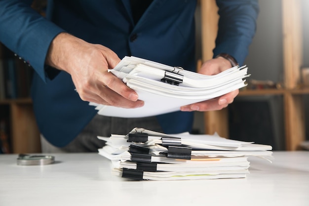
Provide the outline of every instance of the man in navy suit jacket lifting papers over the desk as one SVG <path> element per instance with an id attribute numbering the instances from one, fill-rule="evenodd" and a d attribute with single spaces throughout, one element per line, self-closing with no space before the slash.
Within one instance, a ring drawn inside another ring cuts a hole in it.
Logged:
<path id="1" fill-rule="evenodd" d="M 156 117 L 96 116 L 89 101 L 124 108 L 144 105 L 134 90 L 107 72 L 124 56 L 195 70 L 196 0 L 48 0 L 46 19 L 31 2 L 0 0 L 0 41 L 35 69 L 32 98 L 39 130 L 63 151 L 96 151 L 101 146 L 96 135 L 127 133 L 135 126 L 191 131 L 191 111 L 222 109 L 238 94 L 236 90 Z M 200 73 L 206 75 L 242 64 L 256 29 L 257 0 L 217 0 L 217 5 L 214 57 L 219 56 L 203 64 Z"/>

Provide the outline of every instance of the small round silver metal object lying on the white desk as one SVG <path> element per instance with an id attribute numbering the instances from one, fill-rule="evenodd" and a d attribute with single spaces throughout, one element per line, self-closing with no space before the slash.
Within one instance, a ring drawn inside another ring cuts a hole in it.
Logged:
<path id="1" fill-rule="evenodd" d="M 51 155 L 26 155 L 19 154 L 17 165 L 49 165 L 55 162 L 55 157 Z"/>

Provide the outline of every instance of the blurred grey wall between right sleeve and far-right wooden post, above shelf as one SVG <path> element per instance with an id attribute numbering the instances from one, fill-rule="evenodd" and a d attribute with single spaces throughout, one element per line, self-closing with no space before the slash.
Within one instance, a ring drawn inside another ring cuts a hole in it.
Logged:
<path id="1" fill-rule="evenodd" d="M 259 0 L 256 35 L 245 64 L 251 79 L 282 81 L 281 0 Z"/>

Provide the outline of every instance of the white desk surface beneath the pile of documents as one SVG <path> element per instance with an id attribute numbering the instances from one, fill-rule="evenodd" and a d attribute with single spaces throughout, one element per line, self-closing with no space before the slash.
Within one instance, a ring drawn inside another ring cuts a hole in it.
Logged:
<path id="1" fill-rule="evenodd" d="M 249 158 L 242 179 L 124 181 L 98 154 L 53 154 L 20 166 L 0 155 L 0 206 L 309 206 L 309 152 Z"/>

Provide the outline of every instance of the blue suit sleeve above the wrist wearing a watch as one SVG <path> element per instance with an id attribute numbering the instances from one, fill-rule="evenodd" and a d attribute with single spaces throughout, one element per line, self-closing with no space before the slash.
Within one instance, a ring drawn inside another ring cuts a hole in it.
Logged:
<path id="1" fill-rule="evenodd" d="M 256 32 L 258 0 L 216 0 L 219 25 L 214 56 L 232 55 L 242 65 Z"/>

